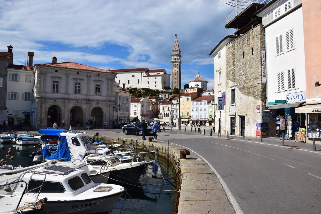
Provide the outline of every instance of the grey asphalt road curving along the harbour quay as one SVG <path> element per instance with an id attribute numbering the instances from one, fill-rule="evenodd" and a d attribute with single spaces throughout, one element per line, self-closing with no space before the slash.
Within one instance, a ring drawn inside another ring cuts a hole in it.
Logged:
<path id="1" fill-rule="evenodd" d="M 122 130 L 99 132 L 125 136 Z M 161 132 L 158 140 L 169 140 L 203 156 L 244 213 L 321 213 L 321 153 L 312 152 L 312 146 L 306 149 L 310 145 L 286 142 L 288 146 L 282 147 L 281 141 L 265 140 L 266 144 L 261 144 L 255 138 L 209 137 L 190 129 Z"/>

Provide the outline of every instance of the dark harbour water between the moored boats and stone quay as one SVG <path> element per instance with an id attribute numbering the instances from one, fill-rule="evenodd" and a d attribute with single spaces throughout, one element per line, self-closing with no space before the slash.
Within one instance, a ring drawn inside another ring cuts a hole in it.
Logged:
<path id="1" fill-rule="evenodd" d="M 4 146 L 4 149 L 0 150 L 0 159 L 7 161 L 8 165 L 13 165 L 14 167 L 18 165 L 33 165 L 29 157 L 34 151 L 33 146 L 21 146 L 9 143 L 0 144 L 0 146 Z M 10 147 L 12 152 L 9 157 L 5 157 Z M 10 160 L 11 156 L 14 156 L 14 160 Z M 154 158 L 151 154 L 142 156 L 144 160 L 152 160 Z M 121 197 L 110 213 L 173 213 L 176 193 L 171 191 L 175 191 L 176 189 L 176 173 L 174 172 L 172 174 L 175 166 L 161 156 L 158 156 L 157 159 L 161 171 L 158 169 L 157 164 L 147 165 L 146 170 L 140 178 L 140 183 L 134 183 L 134 185 L 119 184 L 127 189 L 130 197 L 128 195 L 126 195 L 126 198 Z M 161 190 L 169 191 L 164 192 Z"/>

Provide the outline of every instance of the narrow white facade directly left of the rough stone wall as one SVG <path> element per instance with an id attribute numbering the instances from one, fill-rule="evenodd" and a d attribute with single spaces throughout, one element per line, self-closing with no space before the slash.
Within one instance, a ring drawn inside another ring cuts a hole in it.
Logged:
<path id="1" fill-rule="evenodd" d="M 224 98 L 224 109 L 217 110 L 216 115 L 220 115 L 221 117 L 221 134 L 226 135 L 226 122 L 225 122 L 225 113 L 226 113 L 226 45 L 231 41 L 235 40 L 236 36 L 228 35 L 223 38 L 216 47 L 212 50 L 210 55 L 214 56 L 214 86 L 215 86 L 215 97 L 223 97 Z M 217 99 L 217 98 L 216 98 Z M 219 118 L 215 117 L 215 125 L 219 124 Z M 216 133 L 218 129 L 215 130 Z"/>

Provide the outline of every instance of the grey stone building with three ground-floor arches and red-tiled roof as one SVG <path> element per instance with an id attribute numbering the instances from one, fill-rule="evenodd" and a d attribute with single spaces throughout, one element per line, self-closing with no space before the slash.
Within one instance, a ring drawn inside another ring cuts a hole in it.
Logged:
<path id="1" fill-rule="evenodd" d="M 114 119 L 117 73 L 75 62 L 35 64 L 34 96 L 37 128 L 58 127 L 65 120 L 66 126 L 84 127 L 92 120 L 96 128 L 103 128 L 107 121 L 112 127 Z"/>

